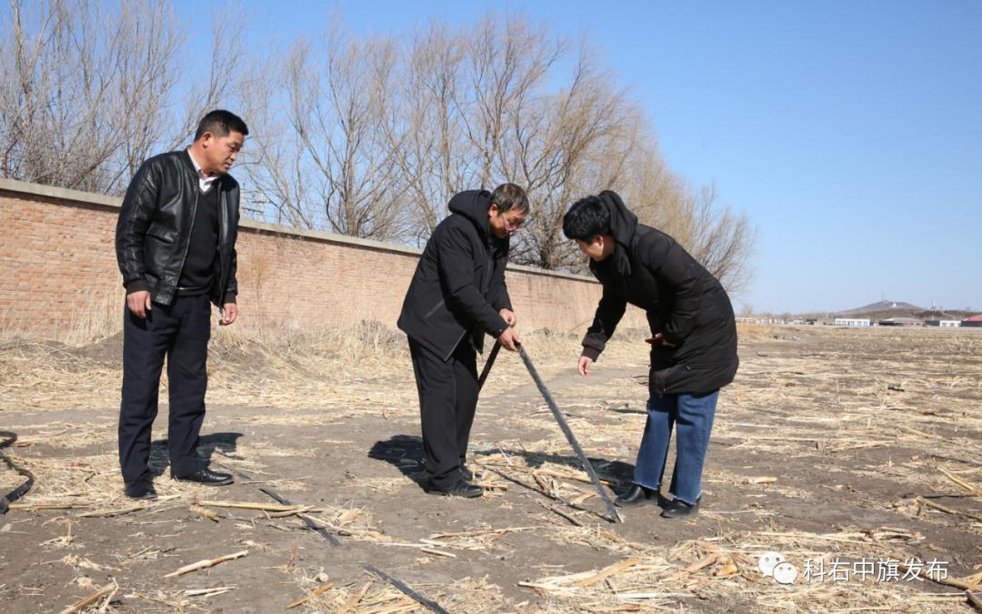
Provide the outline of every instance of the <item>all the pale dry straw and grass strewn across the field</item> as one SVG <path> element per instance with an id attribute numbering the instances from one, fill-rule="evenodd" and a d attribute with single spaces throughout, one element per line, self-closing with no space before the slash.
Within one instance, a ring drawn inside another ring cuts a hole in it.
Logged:
<path id="1" fill-rule="evenodd" d="M 975 453 L 982 432 L 982 334 L 814 327 L 741 327 L 740 332 L 742 366 L 723 395 L 713 453 L 725 451 L 726 458 L 736 461 L 741 455 L 759 456 L 775 463 L 771 471 L 747 469 L 749 460 L 711 463 L 705 474 L 706 495 L 728 503 L 704 509 L 695 538 L 629 538 L 621 526 L 599 521 L 595 510 L 601 506 L 592 487 L 573 467 L 568 444 L 537 402 L 501 418 L 507 426 L 503 432 L 515 432 L 515 437 L 475 441 L 478 450 L 471 457 L 483 482 L 508 487 L 490 491 L 487 505 L 509 509 L 520 502 L 518 492 L 536 497 L 536 512 L 520 525 L 486 523 L 397 540 L 380 518 L 385 510 L 335 501 L 309 515 L 344 539 L 380 550 L 414 552 L 414 566 L 421 569 L 439 561 L 466 561 L 478 552 L 504 557 L 543 547 L 602 553 L 612 561 L 586 571 L 575 561 L 570 569 L 531 568 L 518 599 L 514 586 L 501 586 L 493 576 L 461 578 L 453 585 L 413 585 L 450 611 L 968 611 L 960 591 L 931 581 L 799 580 L 782 586 L 763 577 L 756 563 L 772 550 L 782 552 L 799 573 L 809 561 L 827 566 L 835 560 L 926 562 L 932 554 L 944 555 L 935 545 L 939 535 L 952 534 L 968 544 L 962 552 L 964 562 L 979 562 L 982 550 L 972 550 L 971 544 L 982 543 L 982 463 Z M 804 338 L 807 343 L 799 343 Z M 112 450 L 115 432 L 106 427 L 112 413 L 84 421 L 25 419 L 26 408 L 114 407 L 118 381 L 107 382 L 118 378 L 119 366 L 105 351 L 109 346 L 104 340 L 82 347 L 21 343 L 0 349 L 0 413 L 10 413 L 13 419 L 5 421 L 24 433 L 22 443 L 44 443 L 53 452 L 18 458 L 38 476 L 24 503 L 35 509 L 74 506 L 59 513 L 59 534 L 40 547 L 49 553 L 47 558 L 61 557 L 63 565 L 77 570 L 78 585 L 92 591 L 101 584 L 96 586 L 89 576 L 95 568 L 105 571 L 108 563 L 90 560 L 76 547 L 75 523 L 91 516 L 156 518 L 165 510 L 206 503 L 213 494 L 204 486 L 158 479 L 161 498 L 133 504 L 119 489 Z M 579 351 L 578 336 L 543 332 L 527 335 L 525 346 L 547 378 L 569 373 Z M 646 360 L 642 336 L 625 335 L 611 344 L 598 368 L 628 365 L 641 377 L 625 376 L 599 387 L 587 381 L 554 391 L 584 449 L 593 458 L 605 459 L 597 471 L 611 483 L 618 480 L 613 463 L 633 461 L 625 446 L 636 443 L 644 420 Z M 515 357 L 502 354 L 499 362 L 487 384 L 492 389 L 528 384 Z M 245 424 L 321 426 L 361 415 L 408 422 L 416 412 L 405 339 L 375 324 L 319 335 L 263 337 L 222 331 L 213 338 L 211 369 L 210 403 L 269 410 L 249 414 L 243 418 Z M 318 411 L 305 411 L 310 409 Z M 528 435 L 532 432 L 548 434 L 535 440 Z M 325 433 L 327 438 L 319 443 L 346 443 L 339 438 L 343 436 Z M 317 442 L 286 450 L 244 438 L 234 455 L 216 449 L 214 459 L 265 485 L 303 492 L 302 474 L 268 474 L 265 463 L 277 454 L 309 458 L 313 450 L 303 447 L 309 445 Z M 65 453 L 59 454 L 62 450 Z M 11 452 L 17 455 L 18 449 Z M 154 453 L 166 455 L 164 450 Z M 166 459 L 153 463 L 163 466 Z M 798 475 L 790 468 L 811 468 L 816 474 Z M 351 479 L 362 492 L 389 496 L 398 496 L 407 482 L 403 476 Z M 871 486 L 862 480 L 870 480 Z M 0 486 L 7 483 L 17 480 L 0 470 Z M 910 494 L 898 497 L 898 492 Z M 956 496 L 930 498 L 935 493 Z M 828 506 L 852 506 L 851 521 L 828 530 L 804 530 L 793 514 L 783 513 Z M 217 511 L 221 523 L 242 529 L 243 539 L 257 525 L 289 530 L 300 523 L 296 516 Z M 640 513 L 628 511 L 626 516 L 631 522 Z M 867 516 L 889 516 L 896 523 L 868 521 Z M 159 554 L 150 548 L 136 556 L 155 553 Z M 979 571 L 982 567 L 975 568 L 976 574 Z M 284 567 L 282 574 L 287 586 L 283 606 L 309 596 L 298 610 L 420 611 L 406 595 L 368 574 L 337 580 L 302 565 Z M 961 580 L 982 582 L 965 576 Z M 144 596 L 171 609 L 176 604 L 188 611 L 206 609 L 209 597 L 222 594 L 224 586 L 215 584 L 211 592 L 171 588 Z"/>

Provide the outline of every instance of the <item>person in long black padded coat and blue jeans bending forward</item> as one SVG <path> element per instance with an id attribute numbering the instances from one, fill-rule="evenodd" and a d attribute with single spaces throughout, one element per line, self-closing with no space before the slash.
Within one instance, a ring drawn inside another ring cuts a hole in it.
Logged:
<path id="1" fill-rule="evenodd" d="M 583 338 L 577 370 L 589 375 L 627 304 L 645 310 L 651 327 L 648 419 L 634 479 L 621 506 L 664 504 L 662 516 L 698 513 L 702 469 L 720 388 L 733 381 L 736 319 L 720 282 L 672 237 L 637 223 L 621 197 L 605 191 L 570 207 L 563 232 L 590 258 L 603 285 L 593 324 Z M 671 502 L 659 488 L 676 429 Z"/>

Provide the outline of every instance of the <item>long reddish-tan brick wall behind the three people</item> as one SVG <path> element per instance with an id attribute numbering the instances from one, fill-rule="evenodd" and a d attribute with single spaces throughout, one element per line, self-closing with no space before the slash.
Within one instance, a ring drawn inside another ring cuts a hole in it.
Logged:
<path id="1" fill-rule="evenodd" d="M 62 338 L 119 328 L 113 247 L 119 198 L 0 180 L 0 333 Z M 240 325 L 395 328 L 418 250 L 243 220 Z M 521 330 L 582 331 L 600 296 L 592 279 L 510 265 Z M 631 308 L 626 326 L 645 326 Z"/>

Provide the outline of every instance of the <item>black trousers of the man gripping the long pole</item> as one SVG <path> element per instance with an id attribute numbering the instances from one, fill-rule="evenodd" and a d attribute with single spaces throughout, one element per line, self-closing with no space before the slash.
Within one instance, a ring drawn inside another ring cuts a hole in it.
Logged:
<path id="1" fill-rule="evenodd" d="M 476 352 L 467 339 L 450 360 L 409 339 L 412 371 L 419 392 L 423 461 L 431 483 L 448 486 L 461 479 L 470 425 L 477 408 Z"/>

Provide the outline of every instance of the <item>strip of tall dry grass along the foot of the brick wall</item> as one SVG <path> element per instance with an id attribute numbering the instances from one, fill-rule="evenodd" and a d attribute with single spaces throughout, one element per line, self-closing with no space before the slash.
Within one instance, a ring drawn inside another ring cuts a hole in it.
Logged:
<path id="1" fill-rule="evenodd" d="M 639 338 L 630 331 L 625 336 Z M 523 339 L 547 377 L 567 370 L 579 356 L 578 335 L 536 331 Z M 321 331 L 216 327 L 208 351 L 208 403 L 296 411 L 324 408 L 336 411 L 335 417 L 416 411 L 406 336 L 374 320 Z M 515 357 L 510 361 L 502 354 L 489 380 L 492 388 L 527 377 Z M 647 355 L 615 346 L 603 360 L 641 364 Z M 116 407 L 121 363 L 119 332 L 83 344 L 27 339 L 0 344 L 0 412 Z M 377 385 L 382 380 L 397 385 Z M 165 368 L 162 402 L 166 396 Z"/>

